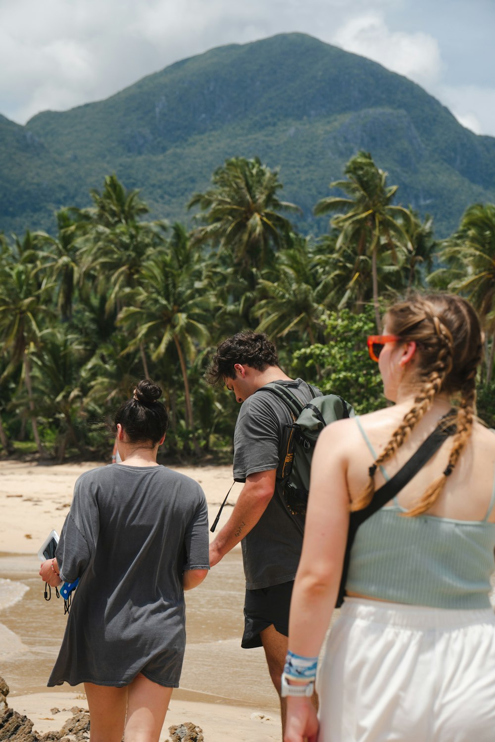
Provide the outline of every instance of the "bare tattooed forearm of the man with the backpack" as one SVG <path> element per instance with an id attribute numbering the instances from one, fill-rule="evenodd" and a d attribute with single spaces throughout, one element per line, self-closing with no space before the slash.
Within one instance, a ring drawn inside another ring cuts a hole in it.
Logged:
<path id="1" fill-rule="evenodd" d="M 275 492 L 276 473 L 270 469 L 246 477 L 232 515 L 210 544 L 210 566 L 220 562 L 258 523 Z"/>

